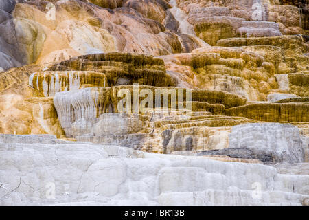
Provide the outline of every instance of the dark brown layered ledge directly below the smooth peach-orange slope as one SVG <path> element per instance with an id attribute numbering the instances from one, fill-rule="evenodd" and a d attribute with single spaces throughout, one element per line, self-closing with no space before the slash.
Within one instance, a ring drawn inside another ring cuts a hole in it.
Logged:
<path id="1" fill-rule="evenodd" d="M 143 54 L 90 54 L 62 61 L 49 68 L 51 71 L 71 69 L 102 72 L 111 86 L 133 83 L 157 87 L 174 85 L 173 79 L 165 72 L 163 61 Z"/>

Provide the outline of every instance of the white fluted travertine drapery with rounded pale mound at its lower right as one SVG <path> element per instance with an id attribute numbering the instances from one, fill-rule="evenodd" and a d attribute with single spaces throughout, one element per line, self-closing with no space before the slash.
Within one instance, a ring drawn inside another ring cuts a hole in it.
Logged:
<path id="1" fill-rule="evenodd" d="M 54 104 L 67 137 L 127 135 L 144 126 L 138 114 L 97 115 L 98 94 L 91 88 L 56 93 Z"/>

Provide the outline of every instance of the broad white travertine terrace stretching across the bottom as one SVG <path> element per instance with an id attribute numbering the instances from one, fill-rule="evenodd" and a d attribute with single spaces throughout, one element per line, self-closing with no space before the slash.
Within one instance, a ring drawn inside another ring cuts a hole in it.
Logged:
<path id="1" fill-rule="evenodd" d="M 0 143 L 1 206 L 301 206 L 309 197 L 308 175 L 262 164 L 10 140 Z"/>

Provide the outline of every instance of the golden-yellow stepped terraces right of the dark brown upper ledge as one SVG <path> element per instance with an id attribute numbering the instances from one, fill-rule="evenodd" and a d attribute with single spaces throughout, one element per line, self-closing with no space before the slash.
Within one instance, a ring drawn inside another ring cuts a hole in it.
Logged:
<path id="1" fill-rule="evenodd" d="M 178 86 L 227 91 L 257 101 L 266 100 L 267 94 L 277 89 L 272 74 L 281 61 L 280 57 L 268 55 L 273 53 L 272 49 L 201 47 L 190 54 L 160 57 L 168 73 L 177 78 Z"/>

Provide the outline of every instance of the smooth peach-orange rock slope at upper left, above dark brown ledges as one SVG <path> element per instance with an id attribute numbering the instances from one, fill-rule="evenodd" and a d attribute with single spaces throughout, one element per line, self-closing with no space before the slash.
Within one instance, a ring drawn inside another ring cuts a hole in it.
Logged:
<path id="1" fill-rule="evenodd" d="M 58 1 L 50 7 L 43 1 L 16 5 L 16 19 L 33 21 L 45 30 L 44 45 L 36 47 L 41 55 L 34 62 L 114 51 L 162 55 L 207 45 L 196 36 L 165 29 L 161 23 L 170 8 L 165 1 L 93 2 L 103 8 L 87 2 Z"/>

